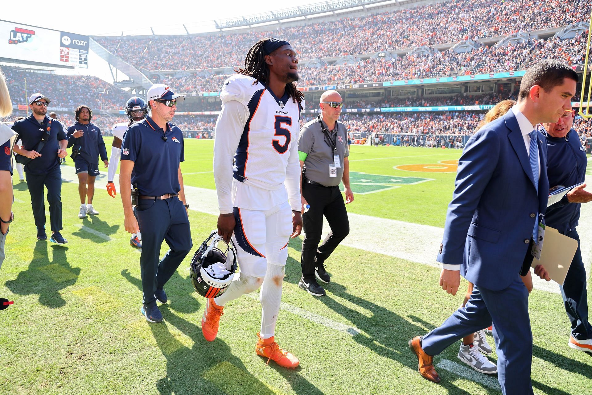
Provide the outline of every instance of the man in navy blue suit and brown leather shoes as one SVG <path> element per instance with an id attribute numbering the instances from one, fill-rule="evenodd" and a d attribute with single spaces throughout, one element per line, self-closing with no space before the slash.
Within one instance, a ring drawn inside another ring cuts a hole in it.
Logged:
<path id="1" fill-rule="evenodd" d="M 409 341 L 427 380 L 440 381 L 434 355 L 493 322 L 503 394 L 533 393 L 528 291 L 520 272 L 532 262 L 530 246 L 549 193 L 547 147 L 535 126 L 555 123 L 571 109 L 577 81 L 575 71 L 556 60 L 531 66 L 517 104 L 466 143 L 437 261 L 447 293 L 456 294 L 461 274 L 475 287 L 442 326 Z"/>

